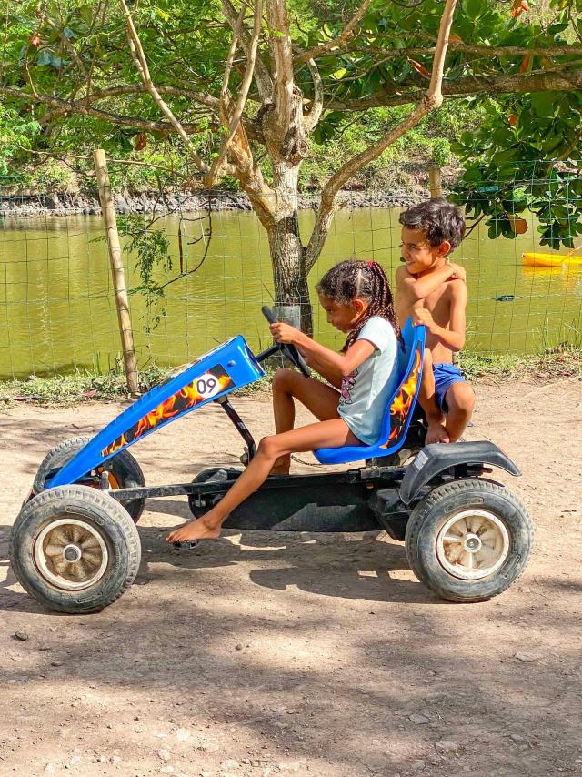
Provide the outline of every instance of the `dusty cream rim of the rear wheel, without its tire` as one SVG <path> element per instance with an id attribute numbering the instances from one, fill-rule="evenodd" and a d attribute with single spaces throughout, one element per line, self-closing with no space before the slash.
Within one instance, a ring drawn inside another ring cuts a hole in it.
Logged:
<path id="1" fill-rule="evenodd" d="M 505 523 L 489 510 L 462 510 L 437 536 L 437 560 L 460 580 L 481 580 L 496 572 L 509 553 Z"/>

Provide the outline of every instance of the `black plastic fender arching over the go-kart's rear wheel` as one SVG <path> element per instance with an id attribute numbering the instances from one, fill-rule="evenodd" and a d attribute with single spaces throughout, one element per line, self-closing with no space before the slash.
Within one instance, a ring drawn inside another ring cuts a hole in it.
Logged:
<path id="1" fill-rule="evenodd" d="M 492 464 L 516 477 L 521 474 L 513 461 L 488 440 L 426 445 L 406 467 L 406 475 L 400 485 L 400 499 L 409 505 L 426 483 L 446 469 L 462 464 Z"/>

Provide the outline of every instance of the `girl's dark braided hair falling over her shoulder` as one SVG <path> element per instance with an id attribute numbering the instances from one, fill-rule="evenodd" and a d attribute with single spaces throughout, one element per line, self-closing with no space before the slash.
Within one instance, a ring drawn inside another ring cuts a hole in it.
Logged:
<path id="1" fill-rule="evenodd" d="M 386 318 L 396 337 L 400 328 L 396 320 L 394 298 L 386 273 L 377 262 L 365 262 L 361 259 L 345 259 L 339 262 L 316 285 L 318 294 L 333 299 L 338 305 L 349 305 L 356 298 L 369 303 L 365 315 L 357 322 L 356 328 L 347 335 L 342 351 L 354 345 L 362 327 L 373 316 Z"/>

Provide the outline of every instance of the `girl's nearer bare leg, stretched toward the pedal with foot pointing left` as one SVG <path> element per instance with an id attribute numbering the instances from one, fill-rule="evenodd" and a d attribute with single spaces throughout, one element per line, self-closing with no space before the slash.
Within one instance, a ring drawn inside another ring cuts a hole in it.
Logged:
<path id="1" fill-rule="evenodd" d="M 168 542 L 186 542 L 187 540 L 203 540 L 218 537 L 220 527 L 229 512 L 246 500 L 266 480 L 273 464 L 280 456 L 315 450 L 317 448 L 340 448 L 344 445 L 361 445 L 352 434 L 344 419 L 332 419 L 309 424 L 306 427 L 264 437 L 256 451 L 256 456 L 248 467 L 243 470 L 234 485 L 226 491 L 225 496 L 212 510 L 186 526 L 172 531 L 167 537 Z"/>

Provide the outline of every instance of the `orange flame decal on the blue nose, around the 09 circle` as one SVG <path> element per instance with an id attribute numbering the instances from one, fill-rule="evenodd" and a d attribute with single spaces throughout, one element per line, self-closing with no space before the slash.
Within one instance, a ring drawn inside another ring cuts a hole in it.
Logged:
<path id="1" fill-rule="evenodd" d="M 199 381 L 201 378 L 207 378 L 208 376 L 216 378 L 218 385 L 212 390 L 211 394 L 206 392 L 205 395 L 204 393 L 200 393 L 200 391 L 204 391 L 204 389 L 201 389 Z M 205 376 L 199 375 L 191 383 L 188 383 L 182 389 L 176 391 L 176 394 L 173 394 L 171 397 L 168 397 L 161 402 L 157 408 L 146 413 L 143 419 L 139 419 L 133 427 L 127 429 L 110 445 L 104 448 L 101 451 L 101 455 L 110 456 L 112 453 L 116 453 L 118 450 L 125 448 L 126 445 L 135 442 L 136 439 L 153 431 L 161 424 L 176 419 L 178 416 L 186 413 L 187 410 L 196 408 L 196 405 L 206 401 L 206 399 L 216 397 L 225 389 L 230 389 L 230 387 L 234 385 L 233 379 L 221 365 L 209 369 L 205 373 Z"/>

